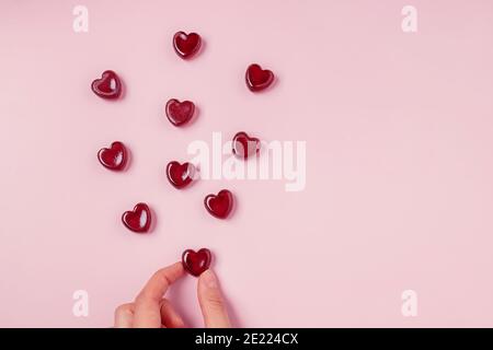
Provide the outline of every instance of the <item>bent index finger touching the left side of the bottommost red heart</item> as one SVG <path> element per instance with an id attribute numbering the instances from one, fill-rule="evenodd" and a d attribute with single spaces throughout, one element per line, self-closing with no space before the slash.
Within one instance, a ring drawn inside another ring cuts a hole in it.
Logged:
<path id="1" fill-rule="evenodd" d="M 135 299 L 134 327 L 161 327 L 161 300 L 184 271 L 182 262 L 175 262 L 152 275 Z"/>

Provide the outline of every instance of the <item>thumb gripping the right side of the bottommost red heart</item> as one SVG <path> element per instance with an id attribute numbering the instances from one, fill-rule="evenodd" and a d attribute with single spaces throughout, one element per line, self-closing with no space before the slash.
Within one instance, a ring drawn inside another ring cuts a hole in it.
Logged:
<path id="1" fill-rule="evenodd" d="M 205 326 L 207 328 L 231 327 L 219 281 L 213 270 L 204 271 L 198 278 L 197 293 Z"/>

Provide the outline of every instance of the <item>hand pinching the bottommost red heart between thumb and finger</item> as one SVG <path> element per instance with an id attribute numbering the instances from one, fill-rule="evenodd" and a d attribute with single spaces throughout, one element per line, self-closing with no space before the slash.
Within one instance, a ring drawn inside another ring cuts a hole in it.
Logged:
<path id="1" fill-rule="evenodd" d="M 116 328 L 180 328 L 182 317 L 164 299 L 168 288 L 185 273 L 182 262 L 157 271 L 135 301 L 115 310 Z M 216 275 L 207 270 L 198 278 L 198 302 L 206 327 L 230 327 L 228 313 Z"/>

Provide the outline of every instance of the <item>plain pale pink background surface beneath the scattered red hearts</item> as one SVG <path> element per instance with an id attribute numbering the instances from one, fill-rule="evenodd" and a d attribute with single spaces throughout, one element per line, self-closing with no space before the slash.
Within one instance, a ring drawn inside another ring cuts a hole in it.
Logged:
<path id="1" fill-rule="evenodd" d="M 72 9 L 89 9 L 89 33 Z M 401 31 L 401 9 L 419 32 Z M 206 45 L 192 61 L 176 31 Z M 493 2 L 14 1 L 0 4 L 0 326 L 106 327 L 149 276 L 209 247 L 237 326 L 493 326 Z M 278 81 L 244 85 L 251 62 Z M 105 69 L 122 101 L 96 97 Z M 185 129 L 168 98 L 196 102 Z M 307 141 L 307 187 L 164 177 L 193 140 Z M 114 140 L 127 172 L 95 158 Z M 203 198 L 230 188 L 228 221 Z M 137 235 L 123 211 L 148 202 Z M 196 280 L 170 298 L 202 325 Z M 87 290 L 89 317 L 72 315 Z M 419 295 L 403 317 L 401 293 Z"/>

